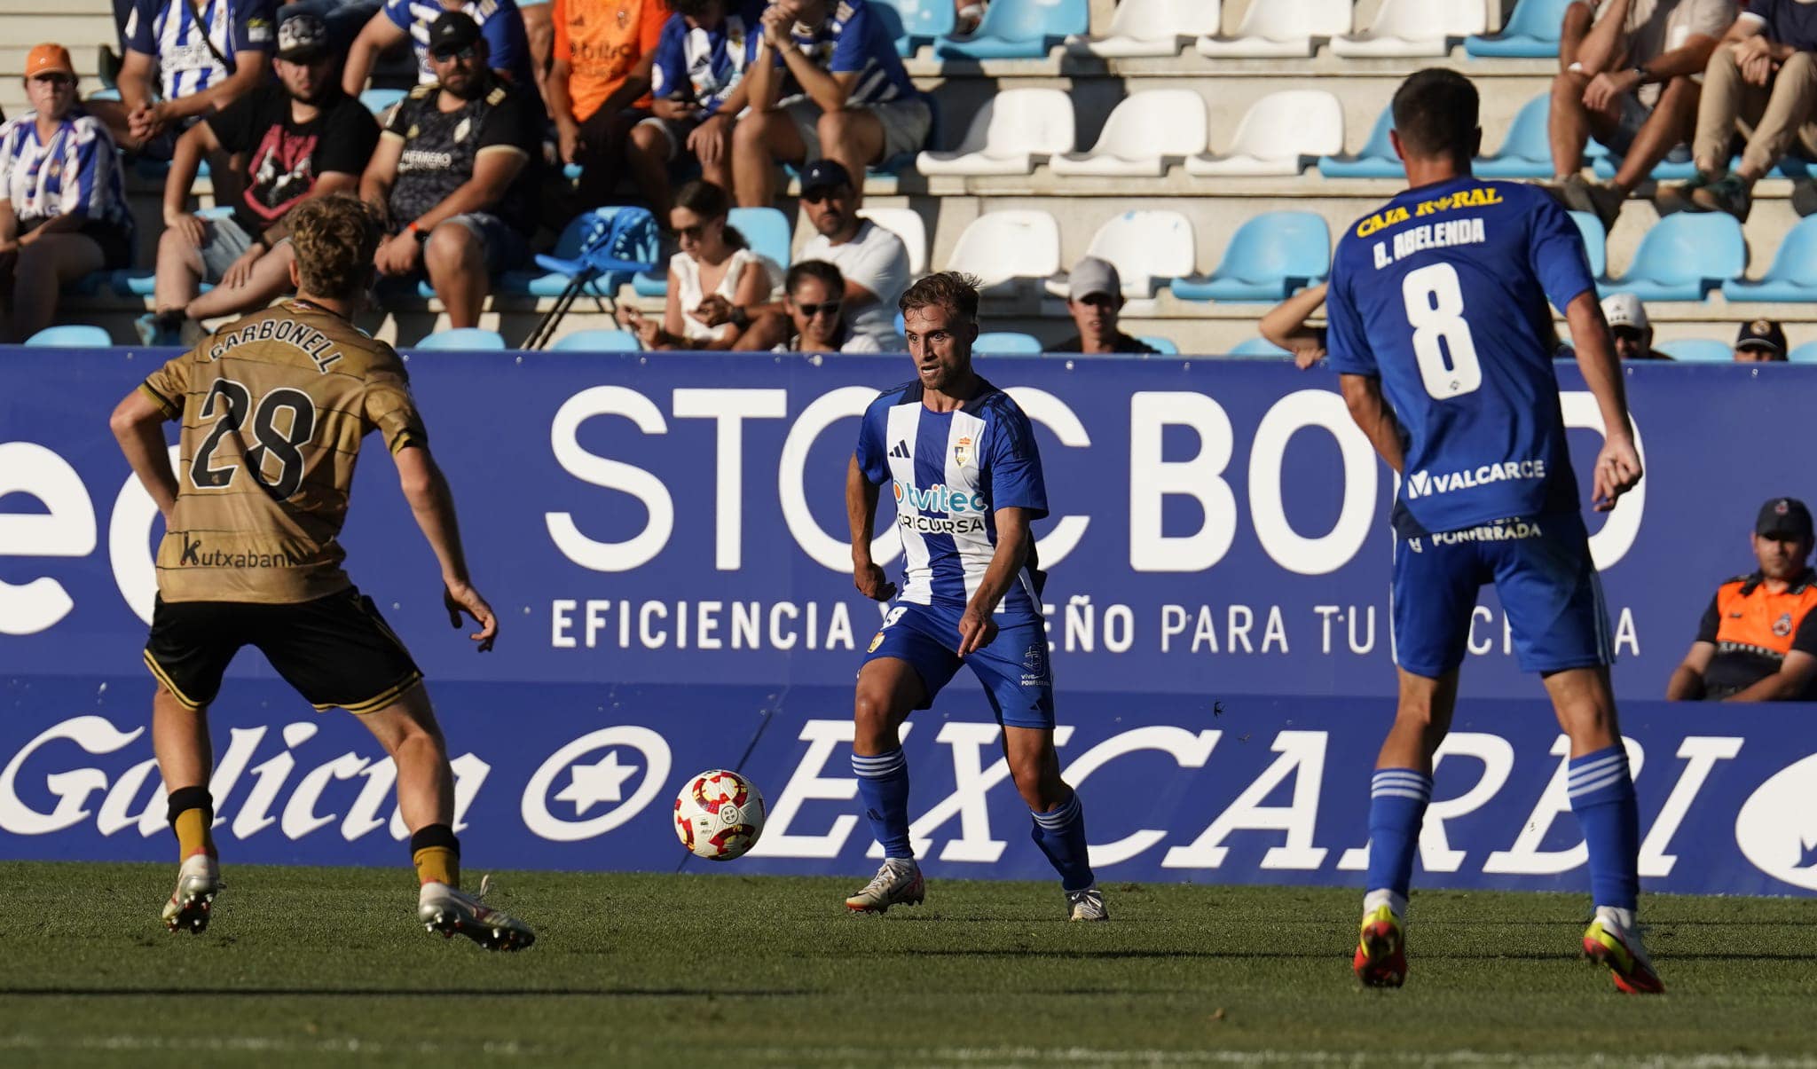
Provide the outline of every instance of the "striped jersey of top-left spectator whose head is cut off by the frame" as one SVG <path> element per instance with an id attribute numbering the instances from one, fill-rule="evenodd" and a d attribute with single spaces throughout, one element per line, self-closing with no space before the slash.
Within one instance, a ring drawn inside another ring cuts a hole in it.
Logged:
<path id="1" fill-rule="evenodd" d="M 234 73 L 240 53 L 276 47 L 273 0 L 196 0 L 194 7 L 200 24 L 189 0 L 134 0 L 125 18 L 125 47 L 156 60 L 165 100 L 220 85 Z M 227 56 L 225 65 L 214 51 Z"/>

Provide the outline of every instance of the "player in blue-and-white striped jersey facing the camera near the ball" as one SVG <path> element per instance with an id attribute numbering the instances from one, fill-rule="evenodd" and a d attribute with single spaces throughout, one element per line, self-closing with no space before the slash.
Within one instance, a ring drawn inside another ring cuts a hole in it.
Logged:
<path id="1" fill-rule="evenodd" d="M 1034 431 L 1007 393 L 972 371 L 978 287 L 930 275 L 901 302 L 916 378 L 865 411 L 845 480 L 852 582 L 892 602 L 858 673 L 852 771 L 883 867 L 845 900 L 854 913 L 918 905 L 908 844 L 908 764 L 898 729 L 970 665 L 1003 725 L 1003 753 L 1034 818 L 1034 842 L 1059 871 L 1070 920 L 1108 920 L 1087 862 L 1085 813 L 1059 778 L 1054 680 L 1028 525 L 1047 516 Z M 870 556 L 879 487 L 896 498 L 907 569 L 901 593 Z"/>

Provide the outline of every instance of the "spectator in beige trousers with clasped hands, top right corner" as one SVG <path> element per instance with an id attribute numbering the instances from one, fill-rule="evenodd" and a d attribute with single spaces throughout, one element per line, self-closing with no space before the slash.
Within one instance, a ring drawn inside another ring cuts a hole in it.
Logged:
<path id="1" fill-rule="evenodd" d="M 1792 149 L 1817 160 L 1817 4 L 1753 0 L 1704 69 L 1692 160 L 1697 176 L 1659 196 L 1661 211 L 1726 211 L 1746 222 L 1753 184 Z M 1728 171 L 1735 131 L 1748 136 Z"/>

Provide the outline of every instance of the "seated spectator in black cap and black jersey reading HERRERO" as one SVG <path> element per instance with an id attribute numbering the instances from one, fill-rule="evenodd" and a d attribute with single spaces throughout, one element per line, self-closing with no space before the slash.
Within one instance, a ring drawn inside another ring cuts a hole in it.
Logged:
<path id="1" fill-rule="evenodd" d="M 380 275 L 429 275 L 449 325 L 472 327 L 492 275 L 529 258 L 532 153 L 541 107 L 491 69 L 480 24 L 460 11 L 429 27 L 436 82 L 391 113 L 360 198 L 382 209 Z"/>

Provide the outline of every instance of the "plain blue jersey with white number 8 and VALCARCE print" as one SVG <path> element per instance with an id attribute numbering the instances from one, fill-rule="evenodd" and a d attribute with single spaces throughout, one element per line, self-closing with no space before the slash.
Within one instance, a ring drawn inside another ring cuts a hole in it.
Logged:
<path id="1" fill-rule="evenodd" d="M 1577 511 L 1546 304 L 1594 285 L 1577 224 L 1512 182 L 1408 189 L 1337 242 L 1330 364 L 1403 427 L 1403 534 Z"/>

